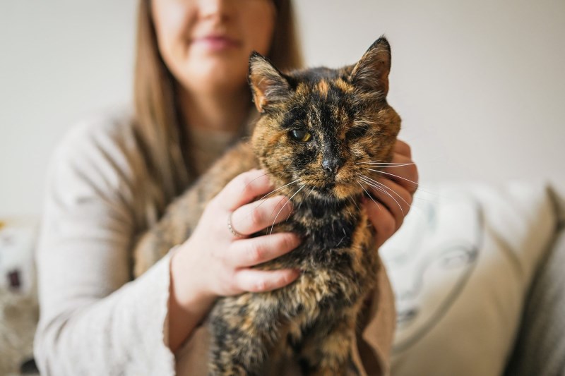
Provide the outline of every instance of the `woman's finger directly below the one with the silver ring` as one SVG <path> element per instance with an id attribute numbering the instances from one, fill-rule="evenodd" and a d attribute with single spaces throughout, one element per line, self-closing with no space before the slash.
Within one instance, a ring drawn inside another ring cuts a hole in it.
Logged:
<path id="1" fill-rule="evenodd" d="M 290 252 L 300 244 L 295 234 L 277 233 L 232 243 L 225 253 L 225 261 L 234 267 L 251 267 Z"/>

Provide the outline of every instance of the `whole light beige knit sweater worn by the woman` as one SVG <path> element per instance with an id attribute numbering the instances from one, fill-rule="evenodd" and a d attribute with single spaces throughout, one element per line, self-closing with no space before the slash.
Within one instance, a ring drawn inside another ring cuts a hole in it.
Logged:
<path id="1" fill-rule="evenodd" d="M 217 157 L 231 140 L 192 136 L 201 170 L 213 158 L 199 153 Z M 176 354 L 167 346 L 170 255 L 131 281 L 133 243 L 164 199 L 151 176 L 129 111 L 81 123 L 57 147 L 37 249 L 35 358 L 42 375 L 206 375 L 206 326 Z M 388 372 L 394 330 L 388 279 L 380 278 L 381 293 L 355 348 L 369 375 Z"/>

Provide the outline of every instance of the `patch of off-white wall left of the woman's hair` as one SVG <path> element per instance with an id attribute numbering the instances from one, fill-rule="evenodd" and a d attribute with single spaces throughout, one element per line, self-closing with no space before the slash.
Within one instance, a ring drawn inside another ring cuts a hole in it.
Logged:
<path id="1" fill-rule="evenodd" d="M 129 101 L 135 3 L 0 1 L 0 217 L 39 214 L 61 135 Z"/>

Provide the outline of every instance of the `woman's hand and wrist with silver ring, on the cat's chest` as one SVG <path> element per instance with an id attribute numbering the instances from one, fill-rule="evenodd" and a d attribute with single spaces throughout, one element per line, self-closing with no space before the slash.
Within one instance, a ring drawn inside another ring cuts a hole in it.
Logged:
<path id="1" fill-rule="evenodd" d="M 283 197 L 252 202 L 273 190 L 263 171 L 236 176 L 208 203 L 191 237 L 171 259 L 169 347 L 175 351 L 219 296 L 279 289 L 299 277 L 293 269 L 258 270 L 254 265 L 295 249 L 295 234 L 245 236 L 287 219 L 292 204 Z M 232 229 L 240 236 L 234 236 Z"/>

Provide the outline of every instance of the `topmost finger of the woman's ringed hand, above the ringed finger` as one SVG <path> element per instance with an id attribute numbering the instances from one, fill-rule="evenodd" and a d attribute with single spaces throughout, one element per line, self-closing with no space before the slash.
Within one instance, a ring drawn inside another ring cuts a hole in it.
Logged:
<path id="1" fill-rule="evenodd" d="M 273 186 L 265 171 L 251 170 L 239 174 L 230 183 L 227 183 L 224 189 L 216 195 L 215 201 L 222 209 L 232 211 L 253 201 L 258 196 L 266 195 L 271 190 Z"/>

